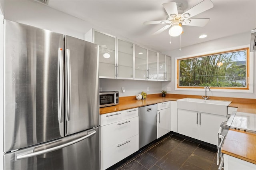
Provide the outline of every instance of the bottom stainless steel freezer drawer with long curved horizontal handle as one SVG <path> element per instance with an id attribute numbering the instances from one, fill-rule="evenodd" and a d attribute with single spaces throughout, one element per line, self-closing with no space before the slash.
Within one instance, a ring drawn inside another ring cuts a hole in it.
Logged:
<path id="1" fill-rule="evenodd" d="M 70 144 L 72 142 L 75 143 Z M 54 151 L 48 152 L 48 150 Z M 33 156 L 33 154 L 35 156 Z M 99 127 L 65 137 L 62 140 L 57 140 L 50 144 L 19 150 L 4 155 L 4 170 L 99 169 Z"/>

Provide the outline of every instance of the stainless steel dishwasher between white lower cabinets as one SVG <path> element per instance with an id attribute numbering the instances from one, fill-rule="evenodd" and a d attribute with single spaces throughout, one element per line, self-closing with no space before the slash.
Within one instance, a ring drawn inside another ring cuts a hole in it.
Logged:
<path id="1" fill-rule="evenodd" d="M 139 108 L 139 148 L 156 140 L 157 104 Z"/>

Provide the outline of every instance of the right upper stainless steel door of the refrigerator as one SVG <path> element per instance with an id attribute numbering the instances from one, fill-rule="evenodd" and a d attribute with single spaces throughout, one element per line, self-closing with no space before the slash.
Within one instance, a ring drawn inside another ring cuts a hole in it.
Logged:
<path id="1" fill-rule="evenodd" d="M 65 36 L 66 135 L 99 123 L 98 45 Z"/>

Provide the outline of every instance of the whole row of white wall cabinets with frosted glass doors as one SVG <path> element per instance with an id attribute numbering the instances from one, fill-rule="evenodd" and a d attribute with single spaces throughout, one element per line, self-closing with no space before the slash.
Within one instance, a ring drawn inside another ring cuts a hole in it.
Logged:
<path id="1" fill-rule="evenodd" d="M 90 29 L 84 40 L 99 45 L 99 77 L 171 81 L 171 57 Z"/>

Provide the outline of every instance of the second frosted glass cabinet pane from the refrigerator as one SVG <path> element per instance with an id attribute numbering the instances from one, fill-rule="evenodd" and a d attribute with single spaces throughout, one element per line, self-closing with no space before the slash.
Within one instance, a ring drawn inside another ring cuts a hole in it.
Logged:
<path id="1" fill-rule="evenodd" d="M 118 40 L 118 76 L 133 79 L 133 44 Z"/>

